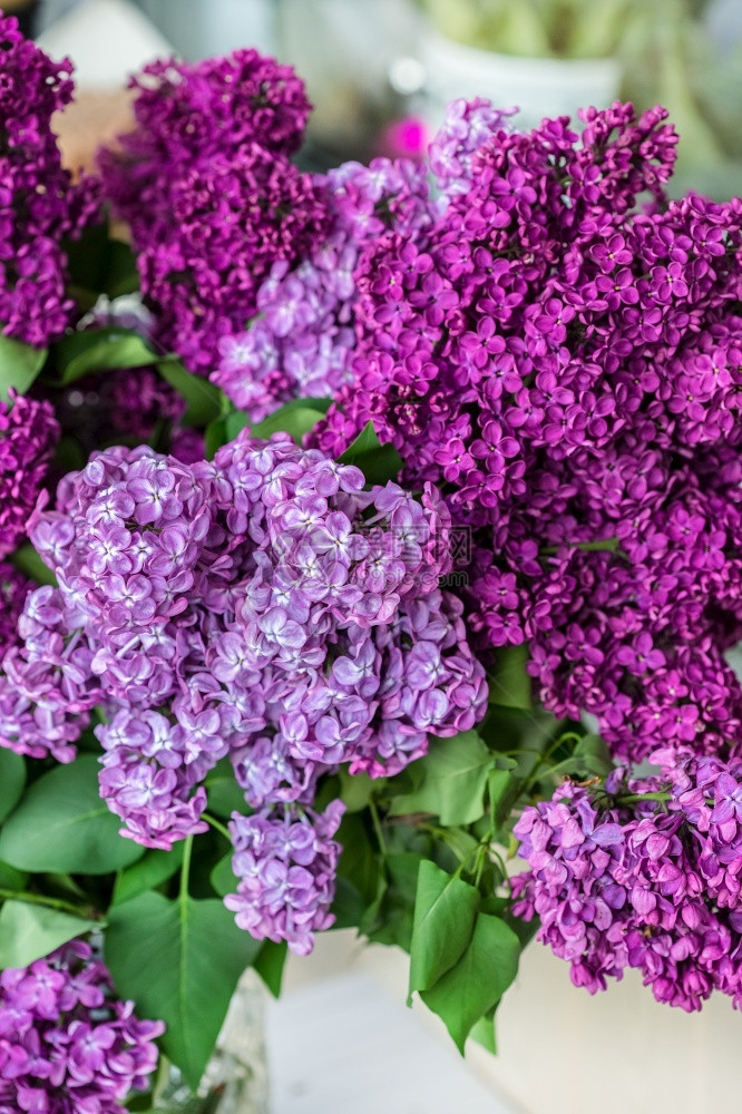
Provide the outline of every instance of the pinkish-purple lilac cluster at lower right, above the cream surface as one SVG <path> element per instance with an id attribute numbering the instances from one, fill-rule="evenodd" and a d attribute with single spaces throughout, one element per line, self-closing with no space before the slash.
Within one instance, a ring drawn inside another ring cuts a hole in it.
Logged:
<path id="1" fill-rule="evenodd" d="M 742 762 L 689 759 L 668 779 L 567 782 L 515 827 L 529 870 L 514 912 L 592 994 L 627 967 L 658 1001 L 742 1007 Z"/>

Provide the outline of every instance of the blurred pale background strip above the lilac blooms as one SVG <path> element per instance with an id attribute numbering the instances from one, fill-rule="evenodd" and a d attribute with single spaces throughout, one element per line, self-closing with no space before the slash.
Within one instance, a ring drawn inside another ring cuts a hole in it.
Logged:
<path id="1" fill-rule="evenodd" d="M 306 158 L 318 166 L 423 150 L 455 97 L 517 105 L 528 126 L 621 96 L 641 108 L 670 109 L 682 136 L 677 192 L 692 187 L 720 198 L 739 192 L 740 0 L 6 0 L 4 7 L 19 9 L 50 48 L 74 41 L 82 84 L 99 96 L 141 60 L 137 48 L 146 57 L 169 43 L 196 59 L 253 45 L 292 62 L 316 106 Z"/>

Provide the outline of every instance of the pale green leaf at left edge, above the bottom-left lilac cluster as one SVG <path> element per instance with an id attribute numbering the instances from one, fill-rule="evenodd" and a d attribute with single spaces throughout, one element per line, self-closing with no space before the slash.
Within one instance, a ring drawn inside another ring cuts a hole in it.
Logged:
<path id="1" fill-rule="evenodd" d="M 6 901 L 0 909 L 0 968 L 28 967 L 68 940 L 100 927 L 100 921 L 71 917 L 47 906 Z"/>

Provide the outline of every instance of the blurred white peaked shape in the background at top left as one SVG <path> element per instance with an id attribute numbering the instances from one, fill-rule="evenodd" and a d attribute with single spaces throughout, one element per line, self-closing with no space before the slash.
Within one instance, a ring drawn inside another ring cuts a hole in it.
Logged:
<path id="1" fill-rule="evenodd" d="M 127 0 L 84 0 L 39 37 L 52 58 L 75 62 L 78 87 L 118 89 L 129 76 L 173 48 Z"/>

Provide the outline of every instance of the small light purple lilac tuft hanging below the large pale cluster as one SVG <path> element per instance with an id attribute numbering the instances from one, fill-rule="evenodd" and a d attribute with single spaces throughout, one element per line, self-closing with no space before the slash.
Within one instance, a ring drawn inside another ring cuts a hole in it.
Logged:
<path id="1" fill-rule="evenodd" d="M 287 940 L 296 955 L 309 955 L 312 934 L 335 919 L 330 906 L 340 846 L 331 837 L 343 809 L 333 801 L 321 815 L 299 813 L 291 805 L 252 817 L 234 814 L 232 864 L 240 885 L 224 903 L 240 928 L 258 940 Z"/>

